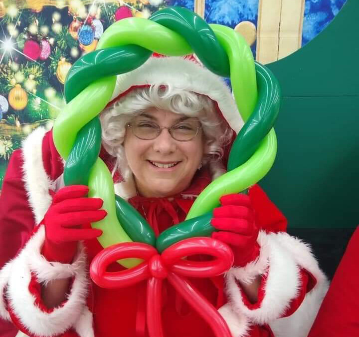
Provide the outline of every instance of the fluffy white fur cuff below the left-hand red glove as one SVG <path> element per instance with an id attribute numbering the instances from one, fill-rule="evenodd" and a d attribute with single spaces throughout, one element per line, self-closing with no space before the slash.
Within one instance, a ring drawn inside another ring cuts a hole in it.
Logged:
<path id="1" fill-rule="evenodd" d="M 20 254 L 11 262 L 11 275 L 8 277 L 6 299 L 14 315 L 21 324 L 32 334 L 38 336 L 55 336 L 64 333 L 72 327 L 80 327 L 81 322 L 87 322 L 88 331 L 92 329 L 89 314 L 85 311 L 88 292 L 88 277 L 86 271 L 86 255 L 80 249 L 75 261 L 70 264 L 48 262 L 40 254 L 45 231 L 41 226 L 30 238 Z M 62 307 L 55 308 L 51 313 L 45 313 L 34 305 L 35 298 L 28 291 L 34 274 L 40 283 L 50 280 L 73 276 L 74 281 L 67 301 Z M 85 331 L 82 324 L 81 331 Z M 81 337 L 93 336 L 91 334 Z"/>

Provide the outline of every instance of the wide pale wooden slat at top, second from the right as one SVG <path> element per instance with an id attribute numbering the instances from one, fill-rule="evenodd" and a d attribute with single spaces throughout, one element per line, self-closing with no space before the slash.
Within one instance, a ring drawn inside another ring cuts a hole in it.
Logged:
<path id="1" fill-rule="evenodd" d="M 282 0 L 259 0 L 256 59 L 266 64 L 278 59 Z"/>

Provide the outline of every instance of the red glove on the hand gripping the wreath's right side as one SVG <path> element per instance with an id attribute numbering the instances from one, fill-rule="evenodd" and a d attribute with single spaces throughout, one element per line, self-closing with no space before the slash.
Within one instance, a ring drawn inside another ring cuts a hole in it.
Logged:
<path id="1" fill-rule="evenodd" d="M 211 221 L 219 232 L 214 232 L 212 238 L 228 244 L 234 254 L 233 266 L 243 267 L 259 256 L 259 228 L 254 222 L 250 198 L 245 194 L 229 194 L 220 198 L 220 203 L 222 206 L 214 209 Z"/>

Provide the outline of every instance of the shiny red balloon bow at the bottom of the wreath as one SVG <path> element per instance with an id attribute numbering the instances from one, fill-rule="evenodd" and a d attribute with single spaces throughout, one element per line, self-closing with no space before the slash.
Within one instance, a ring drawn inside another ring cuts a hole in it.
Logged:
<path id="1" fill-rule="evenodd" d="M 188 261 L 194 254 L 213 256 L 211 261 Z M 143 259 L 140 265 L 120 272 L 106 272 L 120 259 Z M 186 277 L 210 278 L 223 274 L 233 264 L 232 250 L 210 238 L 192 238 L 167 248 L 161 255 L 150 245 L 138 242 L 116 244 L 98 253 L 90 266 L 92 280 L 103 288 L 123 288 L 147 280 L 147 327 L 150 337 L 163 337 L 161 324 L 161 294 L 164 279 L 172 284 L 188 304 L 208 323 L 216 337 L 231 337 L 229 328 L 207 299 Z M 150 310 L 151 309 L 151 310 Z"/>

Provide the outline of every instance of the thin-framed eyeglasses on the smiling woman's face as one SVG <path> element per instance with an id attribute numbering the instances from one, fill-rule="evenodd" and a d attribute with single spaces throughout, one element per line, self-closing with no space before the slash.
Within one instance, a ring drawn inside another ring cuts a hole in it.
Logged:
<path id="1" fill-rule="evenodd" d="M 198 122 L 180 122 L 171 127 L 159 126 L 148 120 L 138 120 L 127 124 L 132 129 L 133 134 L 143 140 L 152 140 L 157 138 L 162 129 L 168 129 L 171 137 L 180 142 L 193 139 L 201 128 Z"/>

